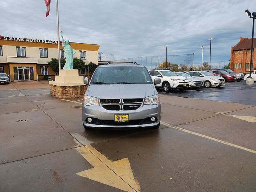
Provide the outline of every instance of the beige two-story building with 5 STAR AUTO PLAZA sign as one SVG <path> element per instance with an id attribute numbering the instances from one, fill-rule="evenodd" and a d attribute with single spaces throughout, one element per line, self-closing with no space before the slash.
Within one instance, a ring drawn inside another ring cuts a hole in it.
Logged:
<path id="1" fill-rule="evenodd" d="M 61 44 L 60 56 L 65 58 Z M 70 46 L 76 50 L 74 57 L 98 65 L 100 45 L 70 42 Z M 51 58 L 58 58 L 57 41 L 0 36 L 0 72 L 12 81 L 54 79 L 56 73 L 47 63 Z"/>

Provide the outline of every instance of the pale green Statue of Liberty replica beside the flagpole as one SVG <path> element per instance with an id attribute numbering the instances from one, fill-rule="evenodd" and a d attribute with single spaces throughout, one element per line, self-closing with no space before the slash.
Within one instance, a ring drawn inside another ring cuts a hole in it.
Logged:
<path id="1" fill-rule="evenodd" d="M 72 47 L 69 45 L 68 39 L 63 39 L 63 32 L 60 33 L 62 38 L 62 47 L 64 48 L 64 54 L 66 57 L 66 63 L 63 69 L 73 69 L 73 55 L 75 54 L 76 50 L 72 49 Z"/>

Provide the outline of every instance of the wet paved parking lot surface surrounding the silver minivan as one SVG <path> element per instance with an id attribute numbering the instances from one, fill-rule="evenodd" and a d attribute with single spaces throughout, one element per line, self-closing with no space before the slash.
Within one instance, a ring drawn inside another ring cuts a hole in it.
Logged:
<path id="1" fill-rule="evenodd" d="M 256 191 L 256 86 L 243 83 L 160 93 L 158 130 L 90 131 L 82 98 L 1 85 L 0 191 Z"/>

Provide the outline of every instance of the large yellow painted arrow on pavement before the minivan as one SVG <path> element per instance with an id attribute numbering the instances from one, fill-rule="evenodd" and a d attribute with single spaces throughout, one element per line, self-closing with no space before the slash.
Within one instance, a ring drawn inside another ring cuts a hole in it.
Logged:
<path id="1" fill-rule="evenodd" d="M 111 161 L 91 145 L 76 148 L 93 168 L 76 173 L 79 176 L 124 190 L 140 192 L 140 184 L 134 179 L 128 158 Z"/>

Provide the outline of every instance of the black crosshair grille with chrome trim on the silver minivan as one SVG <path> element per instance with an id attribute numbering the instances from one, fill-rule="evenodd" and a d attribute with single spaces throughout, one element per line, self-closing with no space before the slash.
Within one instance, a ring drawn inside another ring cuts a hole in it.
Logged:
<path id="1" fill-rule="evenodd" d="M 100 99 L 100 104 L 110 111 L 136 110 L 142 106 L 143 98 L 135 99 Z"/>

